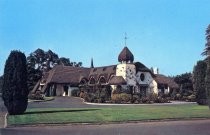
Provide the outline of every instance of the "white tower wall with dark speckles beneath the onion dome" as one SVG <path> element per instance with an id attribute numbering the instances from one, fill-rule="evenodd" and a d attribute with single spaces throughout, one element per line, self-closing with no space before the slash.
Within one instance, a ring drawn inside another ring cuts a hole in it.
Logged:
<path id="1" fill-rule="evenodd" d="M 134 64 L 118 64 L 116 69 L 116 76 L 122 76 L 128 85 L 136 86 L 136 67 Z"/>

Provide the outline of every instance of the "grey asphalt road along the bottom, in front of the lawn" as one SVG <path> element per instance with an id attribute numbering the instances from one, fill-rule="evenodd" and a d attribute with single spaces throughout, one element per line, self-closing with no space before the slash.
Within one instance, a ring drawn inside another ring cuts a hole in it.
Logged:
<path id="1" fill-rule="evenodd" d="M 210 135 L 210 120 L 15 127 L 1 135 Z"/>

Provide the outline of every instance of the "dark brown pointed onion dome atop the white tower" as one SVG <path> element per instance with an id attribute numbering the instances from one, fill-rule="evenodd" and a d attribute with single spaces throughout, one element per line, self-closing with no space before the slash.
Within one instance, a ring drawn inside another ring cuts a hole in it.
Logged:
<path id="1" fill-rule="evenodd" d="M 130 62 L 133 62 L 134 61 L 134 56 L 133 54 L 131 53 L 131 51 L 128 49 L 127 46 L 125 46 L 123 48 L 123 50 L 120 52 L 119 56 L 118 56 L 118 61 L 119 62 L 122 62 L 122 61 L 130 61 Z"/>

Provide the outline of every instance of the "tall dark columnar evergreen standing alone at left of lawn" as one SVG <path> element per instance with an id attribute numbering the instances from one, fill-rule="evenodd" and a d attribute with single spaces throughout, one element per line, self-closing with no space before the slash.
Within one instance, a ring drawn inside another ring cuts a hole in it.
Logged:
<path id="1" fill-rule="evenodd" d="M 6 60 L 3 81 L 3 100 L 11 115 L 22 114 L 28 105 L 26 57 L 12 51 Z"/>

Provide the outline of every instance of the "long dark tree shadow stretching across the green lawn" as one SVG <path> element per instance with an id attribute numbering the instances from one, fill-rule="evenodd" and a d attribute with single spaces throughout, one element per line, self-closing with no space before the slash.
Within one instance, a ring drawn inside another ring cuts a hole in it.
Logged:
<path id="1" fill-rule="evenodd" d="M 25 112 L 24 114 L 58 113 L 58 112 L 85 112 L 85 111 L 97 111 L 97 110 L 100 110 L 100 109 L 31 111 L 31 112 Z"/>

